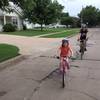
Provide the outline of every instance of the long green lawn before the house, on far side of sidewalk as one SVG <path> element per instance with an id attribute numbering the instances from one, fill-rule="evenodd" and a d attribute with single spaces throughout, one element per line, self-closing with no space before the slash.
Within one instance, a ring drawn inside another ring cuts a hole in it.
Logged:
<path id="1" fill-rule="evenodd" d="M 61 32 L 64 30 L 68 30 L 66 28 L 53 28 L 53 29 L 44 29 L 41 31 L 40 29 L 34 29 L 34 30 L 25 30 L 25 31 L 16 31 L 16 32 L 2 32 L 2 34 L 9 34 L 9 35 L 20 35 L 20 36 L 38 36 L 48 33 L 54 33 L 54 32 Z"/>

